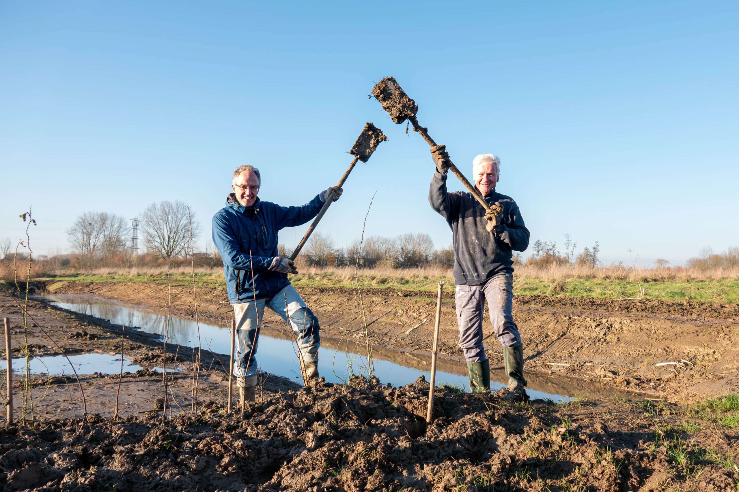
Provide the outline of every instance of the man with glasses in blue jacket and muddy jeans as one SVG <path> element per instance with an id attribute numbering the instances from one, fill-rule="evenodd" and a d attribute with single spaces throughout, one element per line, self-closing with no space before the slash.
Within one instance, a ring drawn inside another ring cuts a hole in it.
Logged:
<path id="1" fill-rule="evenodd" d="M 213 216 L 213 242 L 223 259 L 228 300 L 236 317 L 234 375 L 242 400 L 252 400 L 257 384 L 256 346 L 265 306 L 289 322 L 300 347 L 306 379 L 317 378 L 321 338 L 319 320 L 305 305 L 287 274 L 296 274 L 293 260 L 277 254 L 277 232 L 299 226 L 318 215 L 333 193 L 330 187 L 301 207 L 280 207 L 257 197 L 259 170 L 242 165 L 234 170 L 226 206 Z"/>

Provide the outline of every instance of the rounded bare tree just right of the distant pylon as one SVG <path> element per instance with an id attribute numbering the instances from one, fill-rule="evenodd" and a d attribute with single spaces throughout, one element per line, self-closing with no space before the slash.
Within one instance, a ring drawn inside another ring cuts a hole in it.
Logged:
<path id="1" fill-rule="evenodd" d="M 184 256 L 190 247 L 190 221 L 185 202 L 161 201 L 146 207 L 141 214 L 141 230 L 147 249 L 164 259 Z M 192 213 L 192 238 L 200 238 L 202 228 Z"/>

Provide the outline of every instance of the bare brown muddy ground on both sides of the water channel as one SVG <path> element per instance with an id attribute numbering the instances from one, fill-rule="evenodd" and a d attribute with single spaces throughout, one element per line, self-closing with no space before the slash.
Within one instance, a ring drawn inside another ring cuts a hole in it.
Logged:
<path id="1" fill-rule="evenodd" d="M 157 285 L 62 287 L 57 292 L 92 293 L 166 307 L 164 291 Z M 171 307 L 188 313 L 191 291 L 177 289 L 173 294 Z M 350 339 L 358 333 L 361 313 L 353 308 L 349 293 L 321 290 L 303 294 L 321 316 L 324 334 Z M 365 294 L 373 340 L 422 354 L 428 350 L 433 302 L 409 293 L 394 294 Z M 198 295 L 205 317 L 220 320 L 231 312 L 219 292 L 199 289 Z M 695 339 L 705 340 L 695 333 L 722 323 L 715 316 L 709 319 L 707 311 L 695 317 L 687 313 L 660 315 L 650 313 L 649 308 L 614 314 L 586 311 L 585 305 L 574 303 L 547 307 L 547 299 L 524 301 L 517 305 L 516 315 L 529 346 L 541 352 L 528 353 L 528 367 L 542 373 L 565 367 L 568 373 L 581 376 L 601 372 L 594 377 L 602 378 L 604 384 L 620 384 L 619 378 L 625 378 L 617 372 L 624 366 L 616 369 L 613 361 L 624 364 L 626 358 L 613 347 L 623 353 L 627 334 L 647 330 L 639 340 L 659 336 L 664 340 L 661 346 L 670 350 L 655 359 L 661 361 L 677 356 L 677 350 L 684 350 L 689 342 L 693 346 L 698 342 L 688 339 L 677 345 L 676 332 L 658 333 L 651 328 L 654 324 L 663 329 L 678 327 Z M 41 328 L 65 353 L 120 355 L 118 325 L 33 300 L 29 312 L 33 319 L 28 335 L 35 356 L 59 353 Z M 596 313 L 600 313 L 598 317 Z M 458 349 L 449 302 L 443 314 L 442 347 L 454 358 Z M 0 295 L 0 317 L 9 316 L 13 322 L 16 347 L 22 341 L 20 315 L 16 302 Z M 588 328 L 593 324 L 586 321 L 588 318 L 605 321 Z M 278 324 L 276 319 L 270 322 Z M 723 326 L 726 343 L 714 336 L 710 343 L 716 348 L 703 347 L 715 350 L 716 356 L 691 359 L 697 369 L 705 365 L 704 373 L 657 374 L 651 382 L 664 389 L 667 397 L 677 395 L 675 399 L 687 399 L 686 381 L 692 383 L 691 388 L 711 383 L 716 392 L 732 392 L 726 381 L 712 377 L 712 372 L 721 368 L 717 366 L 726 358 L 725 347 L 730 347 L 735 336 L 733 319 L 723 319 Z M 595 345 L 600 348 L 591 348 L 580 340 L 570 346 L 582 347 L 554 358 L 554 352 L 542 342 L 545 334 L 559 333 L 554 342 L 575 340 L 575 333 L 596 328 L 605 330 L 605 340 L 613 336 L 610 348 L 602 347 L 602 342 Z M 488 339 L 488 343 L 494 351 L 497 342 Z M 636 339 L 628 343 L 637 346 Z M 645 344 L 641 353 L 657 344 Z M 33 378 L 33 422 L 27 414 L 26 425 L 16 423 L 0 432 L 2 490 L 739 490 L 736 409 L 620 398 L 567 405 L 541 400 L 509 404 L 497 395 L 476 397 L 437 387 L 435 421 L 426 427 L 423 416 L 429 385 L 423 379 L 399 388 L 364 378 L 347 385 L 319 381 L 313 387 L 300 388 L 285 378 L 265 375 L 256 403 L 243 415 L 226 415 L 225 361 L 223 356 L 203 351 L 198 412 L 192 414 L 192 352 L 168 347 L 168 367 L 178 372 L 166 378 L 165 398 L 163 375 L 153 370 L 161 366 L 161 342 L 127 329 L 124 350 L 126 358 L 143 369 L 123 374 L 118 419 L 112 418 L 118 375 L 81 375 L 85 417 L 75 378 Z M 609 352 L 613 353 L 607 357 Z M 594 353 L 602 358 L 596 359 Z M 687 353 L 683 356 L 686 360 L 689 357 Z M 547 361 L 573 365 L 548 366 Z M 653 369 L 638 368 L 644 373 L 638 376 L 641 381 L 628 376 L 637 382 L 626 384 L 627 389 L 649 386 L 646 374 Z M 22 391 L 21 378 L 16 377 L 16 418 Z M 739 409 L 739 402 L 732 404 Z"/>

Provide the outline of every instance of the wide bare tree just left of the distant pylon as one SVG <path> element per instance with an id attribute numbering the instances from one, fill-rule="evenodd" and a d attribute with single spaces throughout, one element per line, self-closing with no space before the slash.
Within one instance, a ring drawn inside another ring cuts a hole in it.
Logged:
<path id="1" fill-rule="evenodd" d="M 84 257 L 113 256 L 126 249 L 126 219 L 108 212 L 84 212 L 67 229 L 72 250 Z"/>

